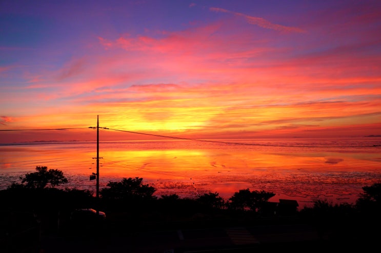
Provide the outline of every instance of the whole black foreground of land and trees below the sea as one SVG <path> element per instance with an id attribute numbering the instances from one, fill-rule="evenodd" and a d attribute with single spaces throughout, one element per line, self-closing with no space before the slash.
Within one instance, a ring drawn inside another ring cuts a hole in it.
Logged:
<path id="1" fill-rule="evenodd" d="M 100 203 L 80 190 L 13 185 L 0 192 L 0 253 L 378 252 L 381 183 L 363 189 L 355 206 L 316 201 L 298 211 L 249 189 L 225 208 L 212 193 L 156 199 L 142 178 L 110 183 Z M 106 215 L 78 210 L 93 204 Z"/>

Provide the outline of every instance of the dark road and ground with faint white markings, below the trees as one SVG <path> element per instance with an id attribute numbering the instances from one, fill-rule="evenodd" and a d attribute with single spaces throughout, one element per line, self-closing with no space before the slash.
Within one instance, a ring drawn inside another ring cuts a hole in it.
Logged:
<path id="1" fill-rule="evenodd" d="M 2 241 L 1 252 L 272 252 L 378 248 L 379 222 L 368 218 L 305 220 L 300 217 L 144 221 L 110 215 L 81 224 L 42 221 L 38 231 Z M 38 235 L 36 235 L 38 233 Z M 33 239 L 34 238 L 34 239 Z M 29 246 L 28 246 L 29 245 Z"/>

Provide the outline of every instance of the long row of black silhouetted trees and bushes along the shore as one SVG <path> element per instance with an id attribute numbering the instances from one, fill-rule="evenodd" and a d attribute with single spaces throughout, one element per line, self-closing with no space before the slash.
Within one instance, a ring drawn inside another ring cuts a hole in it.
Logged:
<path id="1" fill-rule="evenodd" d="M 31 212 L 43 212 L 50 209 L 99 208 L 108 212 L 158 212 L 177 213 L 192 212 L 214 213 L 217 210 L 250 213 L 254 216 L 269 214 L 269 199 L 275 196 L 272 192 L 250 191 L 242 189 L 224 200 L 217 192 L 198 195 L 194 198 L 180 198 L 176 194 L 155 196 L 156 189 L 143 183 L 143 178 L 123 178 L 121 181 L 109 181 L 107 187 L 99 191 L 99 199 L 89 190 L 64 188 L 68 179 L 63 172 L 56 169 L 37 166 L 35 172 L 19 177 L 20 182 L 13 182 L 6 190 L 0 191 L 3 206 L 9 209 L 23 209 Z M 61 186 L 58 189 L 57 186 Z M 328 200 L 317 200 L 312 208 L 304 208 L 299 213 L 313 210 L 325 212 L 366 212 L 380 211 L 381 183 L 363 187 L 355 204 L 333 204 Z M 184 210 L 181 210 L 182 206 Z M 152 209 L 155 207 L 155 209 Z"/>

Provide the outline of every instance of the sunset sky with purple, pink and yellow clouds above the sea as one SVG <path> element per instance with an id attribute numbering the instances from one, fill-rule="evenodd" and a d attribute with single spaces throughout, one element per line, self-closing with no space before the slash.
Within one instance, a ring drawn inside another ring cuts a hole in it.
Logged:
<path id="1" fill-rule="evenodd" d="M 3 0 L 0 143 L 88 140 L 97 115 L 196 139 L 381 135 L 380 13 L 376 0 Z"/>

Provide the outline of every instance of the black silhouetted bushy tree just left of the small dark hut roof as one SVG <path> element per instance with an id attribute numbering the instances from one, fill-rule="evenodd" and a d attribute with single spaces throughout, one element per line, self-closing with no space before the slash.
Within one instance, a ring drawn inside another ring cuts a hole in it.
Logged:
<path id="1" fill-rule="evenodd" d="M 275 193 L 266 191 L 250 191 L 249 188 L 239 190 L 235 192 L 231 198 L 229 198 L 230 207 L 236 210 L 250 209 L 254 212 L 259 212 L 262 209 L 265 202 L 271 197 L 275 196 Z"/>

